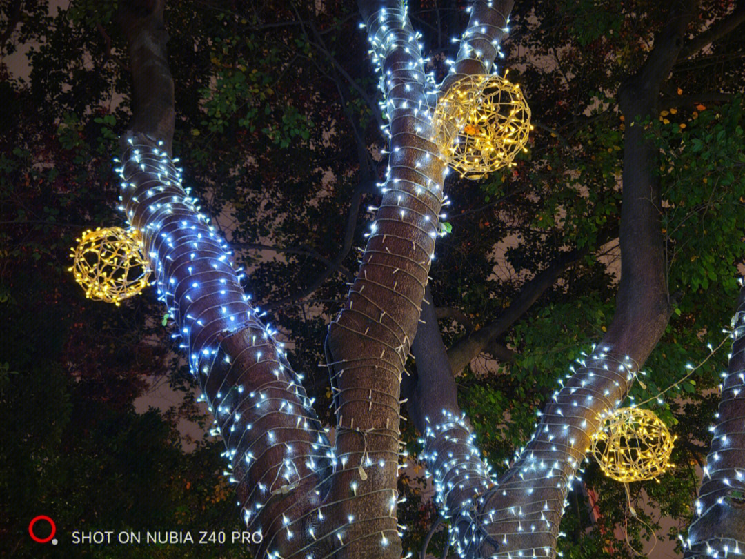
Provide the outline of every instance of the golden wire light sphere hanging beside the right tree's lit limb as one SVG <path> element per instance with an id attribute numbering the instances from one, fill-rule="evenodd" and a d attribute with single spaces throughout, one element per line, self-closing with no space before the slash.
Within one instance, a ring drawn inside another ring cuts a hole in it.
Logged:
<path id="1" fill-rule="evenodd" d="M 654 412 L 619 408 L 592 437 L 590 451 L 606 476 L 617 482 L 656 479 L 673 467 L 675 437 Z"/>

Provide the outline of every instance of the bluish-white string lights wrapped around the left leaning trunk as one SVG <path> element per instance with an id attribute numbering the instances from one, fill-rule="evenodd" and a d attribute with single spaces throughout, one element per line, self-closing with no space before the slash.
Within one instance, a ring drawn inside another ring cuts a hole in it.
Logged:
<path id="1" fill-rule="evenodd" d="M 225 473 L 238 485 L 244 521 L 264 537 L 258 553 L 280 557 L 273 548 L 288 546 L 277 540 L 291 539 L 294 523 L 318 514 L 321 488 L 337 464 L 334 450 L 302 377 L 244 295 L 240 269 L 183 189 L 180 169 L 162 143 L 142 137 L 129 143 L 118 169 L 121 209 L 142 234 L 159 299 L 178 327 L 174 337 L 182 338 L 200 399 L 215 416 L 212 434 L 225 441 Z M 288 505 L 282 496 L 291 491 L 304 498 Z M 287 521 L 276 526 L 277 519 Z M 323 520 L 315 526 L 321 533 L 335 528 Z"/>

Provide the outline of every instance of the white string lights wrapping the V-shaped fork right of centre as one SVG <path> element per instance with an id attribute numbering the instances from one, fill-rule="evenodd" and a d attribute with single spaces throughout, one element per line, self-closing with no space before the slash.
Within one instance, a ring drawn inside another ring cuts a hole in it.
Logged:
<path id="1" fill-rule="evenodd" d="M 421 439 L 436 502 L 450 520 L 450 545 L 461 558 L 546 558 L 556 553 L 567 494 L 580 481 L 589 440 L 626 395 L 637 374 L 629 357 L 593 348 L 559 380 L 560 389 L 527 445 L 497 480 L 464 421 L 443 410 Z M 600 401 L 600 414 L 595 412 Z M 536 538 L 536 536 L 538 536 Z M 536 543 L 539 543 L 536 546 Z"/>

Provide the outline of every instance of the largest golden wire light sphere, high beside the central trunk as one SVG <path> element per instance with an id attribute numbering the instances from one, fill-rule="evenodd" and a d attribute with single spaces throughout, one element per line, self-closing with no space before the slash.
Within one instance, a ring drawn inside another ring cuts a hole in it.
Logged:
<path id="1" fill-rule="evenodd" d="M 466 179 L 513 167 L 533 130 L 519 84 L 486 74 L 455 82 L 438 100 L 433 125 L 443 159 Z"/>

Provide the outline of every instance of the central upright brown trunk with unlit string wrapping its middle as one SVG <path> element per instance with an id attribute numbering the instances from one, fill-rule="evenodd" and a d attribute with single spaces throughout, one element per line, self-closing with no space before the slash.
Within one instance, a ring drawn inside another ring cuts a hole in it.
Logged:
<path id="1" fill-rule="evenodd" d="M 400 382 L 428 281 L 445 167 L 430 139 L 422 53 L 402 4 L 361 1 L 360 8 L 384 76 L 390 159 L 360 271 L 329 325 L 336 450 L 347 464 L 332 499 L 355 517 L 343 556 L 397 558 Z"/>

